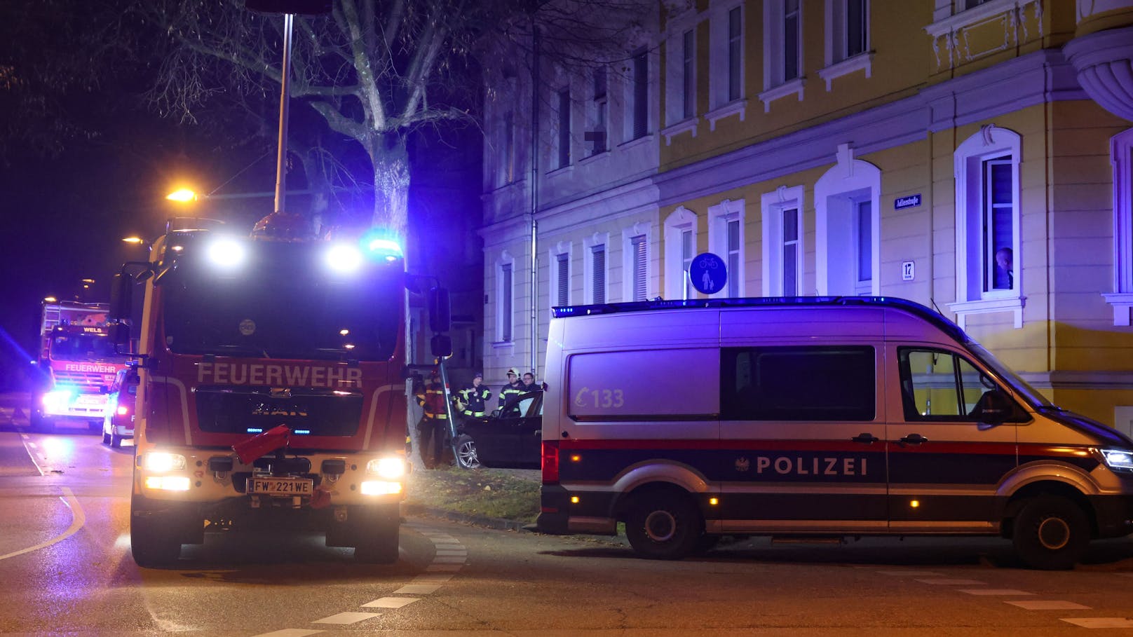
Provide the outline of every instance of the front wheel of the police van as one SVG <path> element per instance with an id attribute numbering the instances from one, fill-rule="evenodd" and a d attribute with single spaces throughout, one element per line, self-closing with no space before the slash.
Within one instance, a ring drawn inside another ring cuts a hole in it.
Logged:
<path id="1" fill-rule="evenodd" d="M 1040 495 L 1023 503 L 1013 525 L 1015 551 L 1031 568 L 1074 568 L 1090 541 L 1082 509 L 1065 498 Z"/>

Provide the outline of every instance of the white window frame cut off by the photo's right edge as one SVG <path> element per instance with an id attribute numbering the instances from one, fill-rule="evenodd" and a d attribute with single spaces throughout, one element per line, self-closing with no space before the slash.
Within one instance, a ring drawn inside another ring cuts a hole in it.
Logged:
<path id="1" fill-rule="evenodd" d="M 1133 324 L 1133 128 L 1109 139 L 1114 168 L 1114 291 L 1101 295 L 1114 308 L 1114 325 Z"/>

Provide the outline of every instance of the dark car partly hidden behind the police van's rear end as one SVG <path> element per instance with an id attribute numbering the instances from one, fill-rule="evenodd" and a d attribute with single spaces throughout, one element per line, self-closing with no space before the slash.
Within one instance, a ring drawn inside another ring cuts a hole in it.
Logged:
<path id="1" fill-rule="evenodd" d="M 543 392 L 521 393 L 491 416 L 465 418 L 453 443 L 457 464 L 466 469 L 538 468 L 543 442 Z"/>

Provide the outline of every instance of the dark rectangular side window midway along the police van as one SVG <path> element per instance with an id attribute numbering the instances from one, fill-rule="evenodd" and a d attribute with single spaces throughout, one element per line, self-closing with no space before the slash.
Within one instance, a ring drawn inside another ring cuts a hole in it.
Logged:
<path id="1" fill-rule="evenodd" d="M 872 421 L 876 355 L 868 346 L 721 350 L 725 421 Z"/>

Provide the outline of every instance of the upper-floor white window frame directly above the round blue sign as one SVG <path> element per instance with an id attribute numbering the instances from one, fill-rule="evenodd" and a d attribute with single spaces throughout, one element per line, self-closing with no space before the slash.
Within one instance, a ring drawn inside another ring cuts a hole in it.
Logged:
<path id="1" fill-rule="evenodd" d="M 729 95 L 731 71 L 731 34 L 729 19 L 733 9 L 740 9 L 740 96 L 731 100 Z M 708 8 L 708 129 L 716 130 L 716 122 L 725 117 L 738 114 L 744 120 L 748 110 L 747 70 L 744 56 L 747 46 L 747 7 L 740 0 L 712 0 Z"/>

